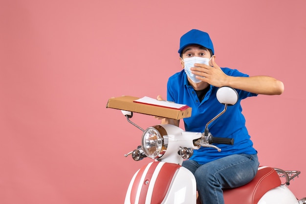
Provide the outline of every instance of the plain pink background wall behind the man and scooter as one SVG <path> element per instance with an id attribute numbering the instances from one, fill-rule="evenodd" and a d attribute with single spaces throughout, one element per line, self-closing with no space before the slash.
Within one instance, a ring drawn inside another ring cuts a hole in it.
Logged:
<path id="1" fill-rule="evenodd" d="M 149 159 L 110 97 L 166 97 L 178 43 L 207 31 L 219 66 L 273 76 L 243 102 L 262 165 L 301 170 L 306 196 L 305 0 L 0 0 L 0 203 L 120 204 Z M 134 114 L 141 127 L 159 123 Z M 204 124 L 203 124 L 204 125 Z"/>

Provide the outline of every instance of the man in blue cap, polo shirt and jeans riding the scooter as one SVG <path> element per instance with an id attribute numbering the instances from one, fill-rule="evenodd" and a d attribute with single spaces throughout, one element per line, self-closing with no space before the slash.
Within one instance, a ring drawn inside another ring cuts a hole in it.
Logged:
<path id="1" fill-rule="evenodd" d="M 167 100 L 192 107 L 192 116 L 184 119 L 186 131 L 204 132 L 205 124 L 223 110 L 216 98 L 219 87 L 233 87 L 239 94 L 239 101 L 209 125 L 215 137 L 233 138 L 234 145 L 217 144 L 221 152 L 201 147 L 182 164 L 195 175 L 202 203 L 224 204 L 222 189 L 247 184 L 259 166 L 240 102 L 258 94 L 280 95 L 284 84 L 272 77 L 249 77 L 235 69 L 220 68 L 209 35 L 200 30 L 193 29 L 180 38 L 178 53 L 184 69 L 169 78 Z M 157 99 L 162 100 L 161 96 Z M 178 120 L 165 118 L 161 123 L 179 125 Z"/>

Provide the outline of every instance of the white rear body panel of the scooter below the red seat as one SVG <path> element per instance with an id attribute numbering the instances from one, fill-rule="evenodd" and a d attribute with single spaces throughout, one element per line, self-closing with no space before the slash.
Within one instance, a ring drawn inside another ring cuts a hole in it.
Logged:
<path id="1" fill-rule="evenodd" d="M 266 192 L 258 204 L 298 204 L 298 200 L 287 186 L 281 185 Z"/>

